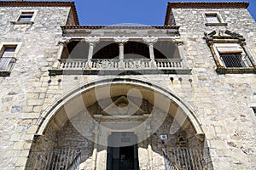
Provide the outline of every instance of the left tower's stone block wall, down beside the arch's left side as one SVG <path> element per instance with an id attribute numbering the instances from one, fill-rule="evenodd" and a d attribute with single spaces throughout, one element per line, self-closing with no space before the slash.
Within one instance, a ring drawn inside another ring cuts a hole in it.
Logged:
<path id="1" fill-rule="evenodd" d="M 34 23 L 12 24 L 20 10 L 36 11 Z M 66 24 L 69 11 L 69 7 L 0 7 L 0 42 L 21 44 L 10 76 L 0 77 L 1 169 L 25 167 L 35 124 L 49 97 L 48 70 L 61 40 L 60 26 Z"/>

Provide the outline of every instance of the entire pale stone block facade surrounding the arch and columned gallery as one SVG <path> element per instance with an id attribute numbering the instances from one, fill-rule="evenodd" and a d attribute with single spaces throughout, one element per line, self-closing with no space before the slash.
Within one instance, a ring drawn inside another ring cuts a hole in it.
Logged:
<path id="1" fill-rule="evenodd" d="M 14 25 L 20 9 L 38 10 L 32 25 Z M 57 99 L 79 84 L 100 79 L 122 77 L 158 84 L 177 94 L 195 111 L 196 118 L 206 135 L 216 169 L 253 169 L 255 160 L 255 116 L 251 106 L 256 106 L 256 77 L 253 74 L 218 75 L 210 49 L 203 39 L 204 32 L 230 30 L 246 38 L 247 48 L 256 56 L 256 26 L 245 8 L 173 8 L 180 39 L 184 42 L 184 57 L 192 69 L 190 75 L 160 74 L 132 76 L 62 75 L 49 77 L 63 41 L 61 28 L 66 24 L 70 8 L 3 8 L 0 7 L 0 41 L 21 42 L 15 56 L 17 62 L 10 77 L 0 77 L 0 167 L 24 169 L 32 139 L 38 129 L 38 120 Z M 203 14 L 218 12 L 227 26 L 206 26 Z M 170 81 L 173 77 L 173 81 Z M 189 80 L 192 80 L 189 81 Z M 163 125 L 164 126 L 164 125 Z M 73 128 L 67 124 L 67 128 Z M 54 135 L 67 133 L 63 128 Z M 193 128 L 189 128 L 193 129 Z M 52 129 L 53 130 L 53 129 Z M 193 130 L 192 130 L 193 131 Z M 189 140 L 195 141 L 195 136 Z M 48 133 L 45 133 L 47 139 Z M 63 137 L 62 136 L 62 137 Z M 61 138 L 60 138 L 61 139 Z M 63 139 L 64 140 L 64 139 Z M 61 141 L 63 141 L 61 140 Z M 61 144 L 64 144 L 60 142 Z M 190 142 L 189 142 L 190 143 Z M 49 149 L 56 146 L 52 141 Z M 145 144 L 139 150 L 144 150 Z M 191 142 L 191 146 L 195 146 Z M 88 143 L 88 147 L 91 145 Z M 154 145 L 157 148 L 157 145 Z M 158 150 L 158 149 L 157 149 Z M 147 150 L 144 150 L 146 153 Z M 143 151 L 141 151 L 143 153 Z M 105 153 L 106 154 L 106 153 Z M 143 160 L 141 158 L 141 160 Z M 160 158 L 160 160 L 162 160 Z M 143 160 L 146 162 L 146 159 Z M 157 160 L 155 160 L 157 161 Z M 106 162 L 105 162 L 106 163 Z"/>

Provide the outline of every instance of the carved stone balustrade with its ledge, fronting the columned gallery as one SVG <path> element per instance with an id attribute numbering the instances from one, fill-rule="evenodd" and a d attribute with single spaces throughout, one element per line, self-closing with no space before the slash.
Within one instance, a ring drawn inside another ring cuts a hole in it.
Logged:
<path id="1" fill-rule="evenodd" d="M 183 59 L 59 59 L 50 75 L 61 74 L 188 74 Z"/>

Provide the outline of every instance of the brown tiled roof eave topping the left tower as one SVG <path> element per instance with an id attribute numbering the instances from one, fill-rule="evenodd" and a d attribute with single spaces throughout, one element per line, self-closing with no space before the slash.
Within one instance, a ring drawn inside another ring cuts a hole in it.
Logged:
<path id="1" fill-rule="evenodd" d="M 70 7 L 76 25 L 79 25 L 79 16 L 74 2 L 58 1 L 1 1 L 0 7 Z"/>

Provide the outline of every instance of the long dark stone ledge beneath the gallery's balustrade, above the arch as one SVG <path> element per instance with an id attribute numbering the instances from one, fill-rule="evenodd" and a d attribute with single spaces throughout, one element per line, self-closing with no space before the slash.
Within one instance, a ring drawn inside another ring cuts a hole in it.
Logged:
<path id="1" fill-rule="evenodd" d="M 49 76 L 57 75 L 150 75 L 191 74 L 191 69 L 147 69 L 147 70 L 49 70 Z"/>

